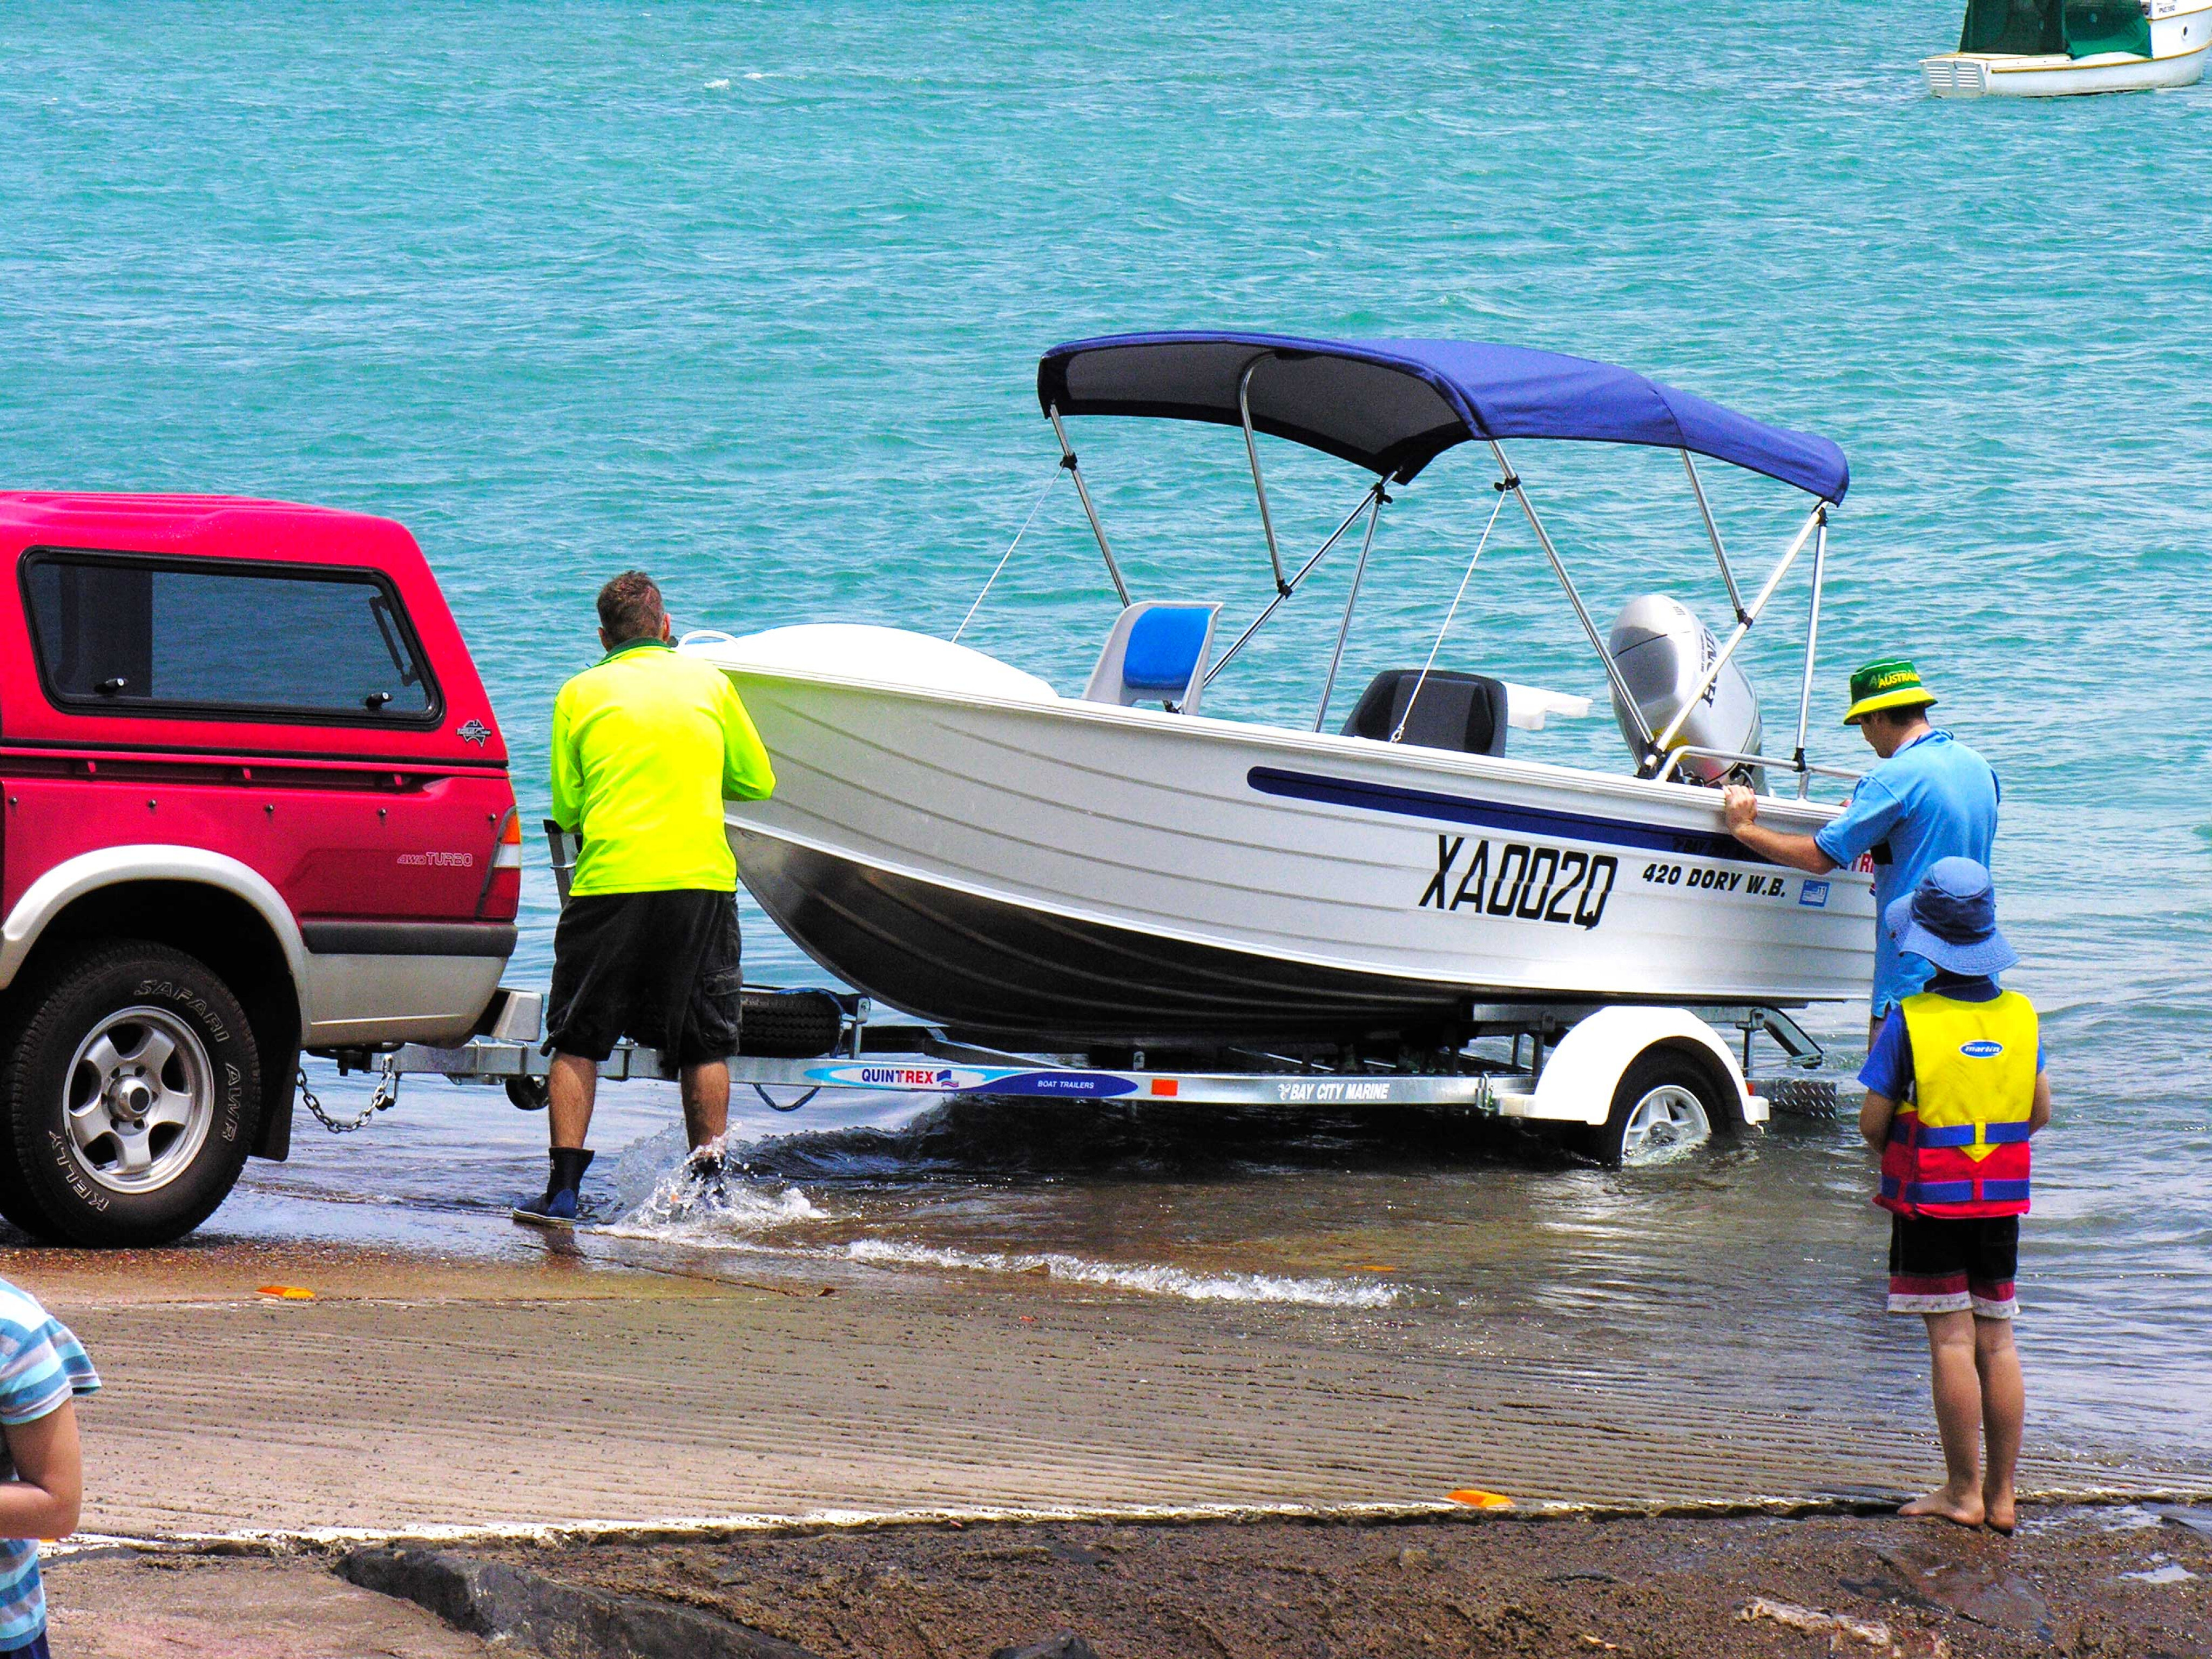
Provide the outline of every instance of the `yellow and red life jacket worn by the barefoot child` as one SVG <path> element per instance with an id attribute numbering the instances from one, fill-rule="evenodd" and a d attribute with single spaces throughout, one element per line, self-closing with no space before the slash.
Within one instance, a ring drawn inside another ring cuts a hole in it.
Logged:
<path id="1" fill-rule="evenodd" d="M 1900 1006 L 1913 1099 L 1889 1119 L 1876 1203 L 1918 1217 L 2026 1214 L 2035 1004 L 2017 991 L 1995 1002 L 1922 991 Z"/>

